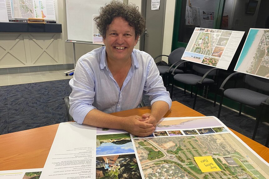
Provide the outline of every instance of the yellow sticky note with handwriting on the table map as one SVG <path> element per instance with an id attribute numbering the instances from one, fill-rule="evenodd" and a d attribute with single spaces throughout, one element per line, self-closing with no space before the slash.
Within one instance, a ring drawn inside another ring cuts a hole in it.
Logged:
<path id="1" fill-rule="evenodd" d="M 202 172 L 221 171 L 212 156 L 194 157 L 194 160 Z"/>

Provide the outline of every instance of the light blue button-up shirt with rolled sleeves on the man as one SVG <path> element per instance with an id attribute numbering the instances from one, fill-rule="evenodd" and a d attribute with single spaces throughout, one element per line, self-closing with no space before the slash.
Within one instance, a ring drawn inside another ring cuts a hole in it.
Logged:
<path id="1" fill-rule="evenodd" d="M 153 58 L 134 49 L 131 60 L 121 89 L 107 66 L 105 47 L 94 49 L 78 60 L 74 77 L 69 82 L 72 87 L 69 113 L 77 123 L 82 124 L 92 109 L 112 113 L 136 108 L 143 94 L 149 96 L 151 105 L 155 101 L 165 101 L 171 107 L 169 92 Z"/>

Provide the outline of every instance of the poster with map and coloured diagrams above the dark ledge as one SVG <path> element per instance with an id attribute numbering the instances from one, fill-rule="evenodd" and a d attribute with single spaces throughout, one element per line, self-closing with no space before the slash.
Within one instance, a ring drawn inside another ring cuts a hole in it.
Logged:
<path id="1" fill-rule="evenodd" d="M 10 7 L 12 18 L 56 21 L 54 0 L 10 0 Z"/>

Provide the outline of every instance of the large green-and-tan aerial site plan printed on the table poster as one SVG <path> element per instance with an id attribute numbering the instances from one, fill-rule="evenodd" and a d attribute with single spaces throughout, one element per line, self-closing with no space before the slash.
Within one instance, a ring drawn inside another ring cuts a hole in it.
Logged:
<path id="1" fill-rule="evenodd" d="M 268 166 L 229 133 L 133 140 L 145 179 L 269 178 Z M 203 173 L 194 157 L 205 155 L 212 156 L 221 171 Z"/>

